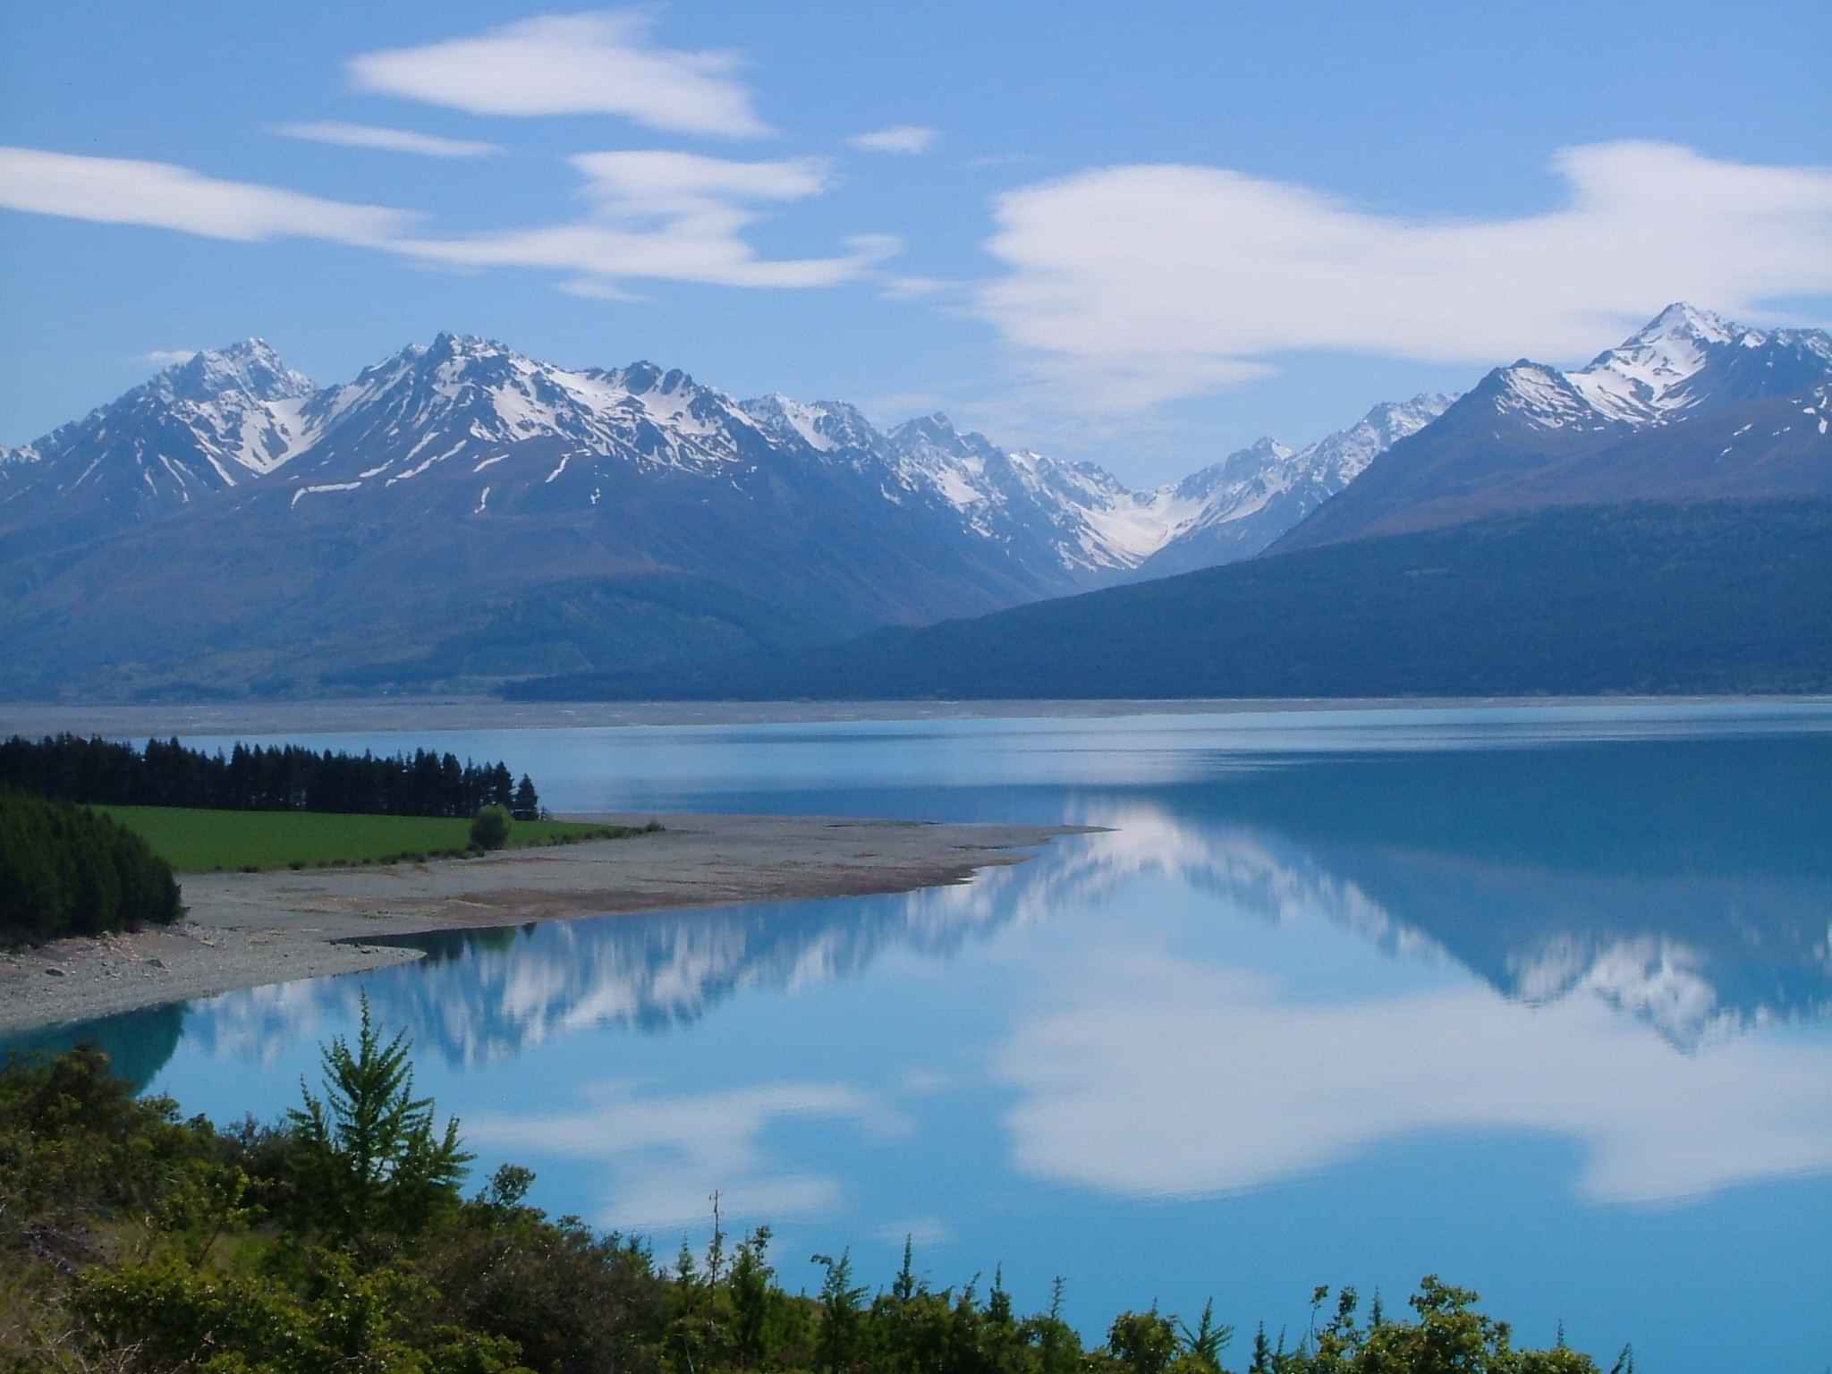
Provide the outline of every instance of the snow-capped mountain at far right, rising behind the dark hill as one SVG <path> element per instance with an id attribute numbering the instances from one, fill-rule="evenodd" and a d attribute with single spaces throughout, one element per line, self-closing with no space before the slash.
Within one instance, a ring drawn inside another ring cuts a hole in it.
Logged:
<path id="1" fill-rule="evenodd" d="M 1275 551 L 1543 506 L 1832 495 L 1832 335 L 1685 302 L 1570 372 L 1495 368 Z"/>

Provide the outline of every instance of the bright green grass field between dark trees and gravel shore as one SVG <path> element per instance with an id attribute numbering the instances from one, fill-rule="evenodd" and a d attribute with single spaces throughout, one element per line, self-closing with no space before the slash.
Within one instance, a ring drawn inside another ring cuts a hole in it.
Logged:
<path id="1" fill-rule="evenodd" d="M 442 815 L 333 815 L 328 812 L 203 812 L 183 806 L 95 806 L 180 872 L 319 868 L 463 854 L 471 823 Z M 579 821 L 517 821 L 507 848 L 572 845 L 641 834 Z"/>

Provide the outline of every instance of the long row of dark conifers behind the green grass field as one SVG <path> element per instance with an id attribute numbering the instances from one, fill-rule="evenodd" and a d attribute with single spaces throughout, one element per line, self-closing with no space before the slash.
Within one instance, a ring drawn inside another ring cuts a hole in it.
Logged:
<path id="1" fill-rule="evenodd" d="M 540 793 L 526 773 L 517 782 L 507 764 L 460 764 L 427 749 L 377 757 L 236 742 L 227 755 L 209 755 L 176 736 L 136 749 L 101 736 L 15 735 L 0 744 L 0 786 L 106 806 L 370 815 L 476 815 L 504 806 L 520 821 L 540 815 Z"/>

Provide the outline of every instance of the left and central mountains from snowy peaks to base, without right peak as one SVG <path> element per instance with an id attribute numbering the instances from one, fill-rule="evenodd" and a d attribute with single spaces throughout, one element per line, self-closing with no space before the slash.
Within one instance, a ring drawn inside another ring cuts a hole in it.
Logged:
<path id="1" fill-rule="evenodd" d="M 652 363 L 442 333 L 321 388 L 249 339 L 0 454 L 0 691 L 453 683 L 997 610 L 1249 557 L 1447 403 L 1132 491 Z"/>

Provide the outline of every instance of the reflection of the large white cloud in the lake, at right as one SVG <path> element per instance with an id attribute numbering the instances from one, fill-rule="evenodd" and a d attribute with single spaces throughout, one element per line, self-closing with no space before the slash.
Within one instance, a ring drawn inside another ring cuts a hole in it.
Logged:
<path id="1" fill-rule="evenodd" d="M 1832 1171 L 1832 1064 L 1805 1039 L 1685 1055 L 1592 997 L 1530 1008 L 1458 987 L 1319 1006 L 1171 956 L 1090 960 L 1048 991 L 998 1068 L 1020 1092 L 1006 1118 L 1019 1165 L 1057 1182 L 1255 1189 L 1429 1130 L 1576 1140 L 1579 1194 L 1610 1204 Z M 1167 1044 L 1216 1050 L 1191 1064 Z"/>

